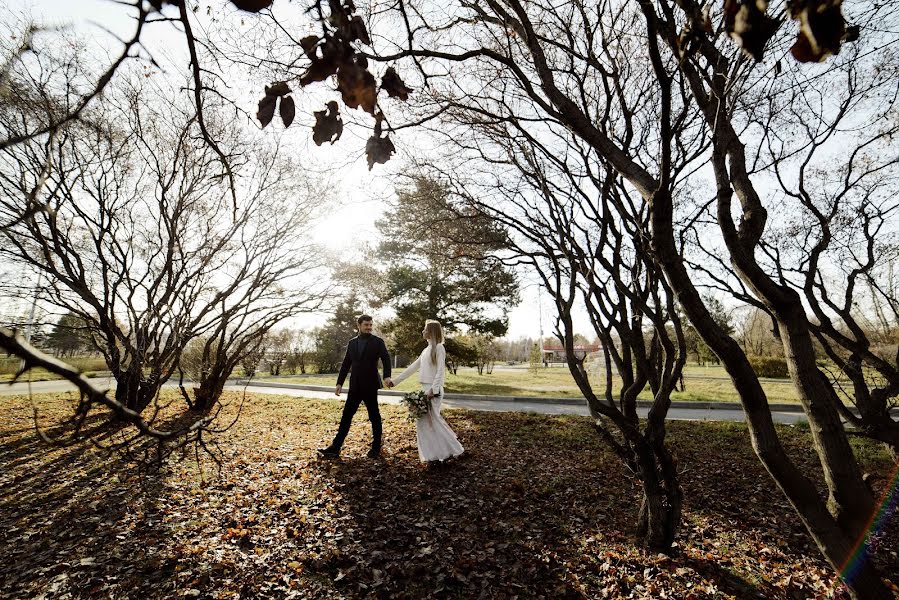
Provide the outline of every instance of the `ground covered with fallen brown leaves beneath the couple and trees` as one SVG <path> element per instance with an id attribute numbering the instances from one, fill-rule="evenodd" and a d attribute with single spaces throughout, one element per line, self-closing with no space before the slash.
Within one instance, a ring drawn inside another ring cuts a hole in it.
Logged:
<path id="1" fill-rule="evenodd" d="M 47 422 L 65 409 L 58 399 L 38 403 Z M 833 593 L 831 571 L 741 425 L 671 423 L 686 507 L 678 547 L 666 557 L 631 543 L 636 482 L 587 419 L 447 411 L 469 455 L 426 469 L 414 427 L 395 406 L 382 407 L 384 459 L 365 458 L 364 409 L 342 460 L 317 459 L 340 408 L 250 397 L 218 438 L 220 473 L 180 463 L 139 477 L 90 446 L 47 447 L 28 399 L 0 398 L 0 597 Z M 807 432 L 784 431 L 811 469 Z M 887 455 L 854 443 L 883 492 Z M 899 573 L 897 540 L 894 518 L 878 545 L 884 573 Z"/>

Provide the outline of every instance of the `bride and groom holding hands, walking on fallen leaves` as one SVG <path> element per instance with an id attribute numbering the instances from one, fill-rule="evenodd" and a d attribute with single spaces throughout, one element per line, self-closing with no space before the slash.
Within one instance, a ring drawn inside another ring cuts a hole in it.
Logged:
<path id="1" fill-rule="evenodd" d="M 456 434 L 440 415 L 443 398 L 443 380 L 446 374 L 446 348 L 443 346 L 443 328 L 437 321 L 426 321 L 422 337 L 428 345 L 421 355 L 395 379 L 391 379 L 390 353 L 384 340 L 372 334 L 372 318 L 362 315 L 356 319 L 359 335 L 347 344 L 346 355 L 337 376 L 335 395 L 340 396 L 347 374 L 350 375 L 350 390 L 343 407 L 343 416 L 337 428 L 334 441 L 318 453 L 327 458 L 340 456 L 340 449 L 350 431 L 353 415 L 364 403 L 371 421 L 372 446 L 368 452 L 371 458 L 381 455 L 381 412 L 378 409 L 378 390 L 402 383 L 407 377 L 418 372 L 422 391 L 431 402 L 431 409 L 415 422 L 418 440 L 418 457 L 421 462 L 441 461 L 459 456 L 464 451 Z M 378 374 L 378 360 L 384 367 L 384 383 Z"/>

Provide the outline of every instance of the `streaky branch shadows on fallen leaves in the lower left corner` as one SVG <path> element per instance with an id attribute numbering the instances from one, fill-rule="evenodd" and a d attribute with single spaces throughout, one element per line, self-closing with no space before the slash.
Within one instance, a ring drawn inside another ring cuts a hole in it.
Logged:
<path id="1" fill-rule="evenodd" d="M 96 414 L 82 432 L 109 443 L 126 429 Z M 86 441 L 53 446 L 22 427 L 0 430 L 0 474 L 4 595 L 122 596 L 134 582 L 161 582 L 174 572 L 175 563 L 158 551 L 168 537 L 159 518 L 159 474 L 138 474 L 117 451 Z"/>

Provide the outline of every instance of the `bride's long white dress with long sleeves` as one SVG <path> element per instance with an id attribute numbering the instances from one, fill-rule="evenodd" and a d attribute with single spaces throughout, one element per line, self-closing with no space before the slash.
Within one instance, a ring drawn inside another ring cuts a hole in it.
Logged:
<path id="1" fill-rule="evenodd" d="M 424 349 L 414 363 L 405 371 L 395 377 L 393 382 L 397 385 L 407 377 L 418 371 L 418 381 L 424 393 L 434 392 L 431 399 L 431 410 L 415 422 L 416 437 L 418 438 L 418 458 L 421 462 L 432 460 L 445 460 L 452 456 L 459 456 L 465 449 L 456 434 L 450 429 L 449 424 L 440 414 L 440 406 L 443 400 L 443 379 L 446 374 L 446 348 L 443 344 L 437 344 L 437 364 L 431 362 L 432 344 Z"/>

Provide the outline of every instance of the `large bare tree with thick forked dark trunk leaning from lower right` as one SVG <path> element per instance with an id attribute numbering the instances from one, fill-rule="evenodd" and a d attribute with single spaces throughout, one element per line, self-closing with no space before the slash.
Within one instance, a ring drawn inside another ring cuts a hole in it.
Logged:
<path id="1" fill-rule="evenodd" d="M 651 243 L 640 251 L 651 253 L 664 273 L 665 285 L 677 295 L 690 322 L 725 364 L 740 394 L 759 459 L 851 593 L 865 598 L 889 597 L 867 556 L 865 533 L 875 504 L 841 422 L 841 415 L 848 415 L 841 412 L 833 385 L 816 364 L 814 340 L 820 337 L 817 332 L 822 326 L 828 327 L 824 316 L 833 321 L 827 313 L 834 307 L 821 312 L 811 307 L 807 312 L 807 299 L 784 283 L 776 267 L 774 271 L 768 268 L 763 241 L 768 223 L 763 198 L 768 194 L 759 187 L 754 171 L 765 167 L 771 174 L 773 170 L 761 161 L 753 162 L 746 151 L 753 139 L 750 124 L 759 122 L 767 127 L 767 115 L 777 111 L 776 105 L 765 107 L 757 101 L 758 95 L 771 94 L 769 86 L 781 87 L 773 75 L 788 70 L 795 73 L 796 85 L 809 90 L 822 77 L 834 77 L 839 68 L 823 67 L 814 76 L 800 72 L 792 61 L 780 61 L 771 71 L 757 68 L 747 54 L 759 60 L 766 49 L 783 52 L 793 36 L 784 28 L 778 32 L 779 19 L 752 3 L 728 2 L 719 12 L 714 6 L 692 0 L 640 0 L 624 7 L 615 3 L 570 2 L 560 7 L 496 0 L 461 3 L 446 11 L 444 14 L 452 16 L 445 19 L 415 2 L 402 4 L 408 27 L 385 42 L 387 51 L 371 58 L 414 59 L 422 80 L 431 86 L 432 97 L 445 102 L 449 96 L 454 103 L 487 119 L 505 123 L 511 112 L 518 123 L 532 131 L 547 120 L 558 122 L 610 165 L 645 202 Z M 799 60 L 822 60 L 836 54 L 844 40 L 858 37 L 859 28 L 862 33 L 867 27 L 883 31 L 881 21 L 890 18 L 881 5 L 864 4 L 853 15 L 860 27 L 847 27 L 837 5 L 825 19 L 828 27 L 833 27 L 822 28 L 817 21 L 809 24 L 809 11 L 821 5 L 790 5 L 789 16 L 803 23 L 791 49 Z M 783 8 L 778 6 L 776 10 Z M 723 26 L 715 27 L 715 22 Z M 616 33 L 621 31 L 628 35 Z M 745 54 L 730 44 L 726 34 L 738 39 Z M 894 41 L 891 35 L 881 33 L 850 47 L 832 65 L 859 61 L 863 53 L 876 54 L 889 48 Z M 618 58 L 626 56 L 627 60 L 610 58 L 610 48 Z M 872 72 L 877 74 L 876 69 Z M 622 83 L 628 76 L 630 81 Z M 776 85 L 772 86 L 772 80 Z M 880 80 L 878 89 L 883 92 L 886 85 Z M 750 93 L 753 91 L 759 93 Z M 883 97 L 895 99 L 892 93 Z M 819 118 L 816 127 L 820 129 L 816 130 L 826 132 L 832 129 L 832 122 L 822 112 L 815 106 L 810 115 Z M 454 134 L 464 135 L 461 131 Z M 692 162 L 680 160 L 697 139 L 709 151 Z M 695 171 L 692 185 L 678 186 L 678 180 L 685 179 L 679 169 Z M 792 182 L 803 181 L 801 175 L 790 177 Z M 711 199 L 699 198 L 696 191 L 700 182 L 708 185 L 709 179 L 715 194 Z M 853 177 L 847 181 L 855 183 Z M 795 191 L 796 186 L 791 184 L 790 189 Z M 691 214 L 685 210 L 684 197 L 692 198 L 694 205 L 713 208 Z M 734 199 L 738 205 L 734 205 Z M 812 215 L 813 207 L 823 216 L 819 223 L 828 219 L 829 212 L 822 211 L 814 199 L 806 202 Z M 683 237 L 695 230 L 696 219 L 703 214 L 711 215 L 708 224 L 721 240 L 721 255 L 732 265 L 738 286 L 777 323 L 791 378 L 811 424 L 826 501 L 781 446 L 757 374 L 732 335 L 715 322 L 697 285 L 697 273 L 690 270 L 685 259 Z M 800 227 L 798 231 L 806 229 Z M 877 228 L 870 231 L 876 239 Z M 813 243 L 810 247 L 812 259 L 816 246 Z M 866 264 L 864 259 L 861 262 Z M 861 273 L 851 275 L 856 271 L 850 269 L 848 287 L 852 287 L 853 278 L 860 277 Z M 809 285 L 819 284 L 816 277 L 808 279 Z M 819 302 L 826 305 L 823 300 Z M 834 304 L 839 307 L 841 303 Z M 842 320 L 849 322 L 845 315 Z M 832 341 L 837 333 L 839 329 L 834 326 L 825 337 Z M 864 348 L 864 342 L 852 344 Z M 852 368 L 851 361 L 843 362 Z M 885 386 L 883 396 L 872 397 L 872 401 L 880 402 L 891 389 L 891 385 Z M 865 401 L 863 389 L 854 393 L 857 402 Z M 860 547 L 857 540 L 862 540 Z M 853 556 L 860 557 L 857 568 L 844 572 L 844 565 Z"/>

